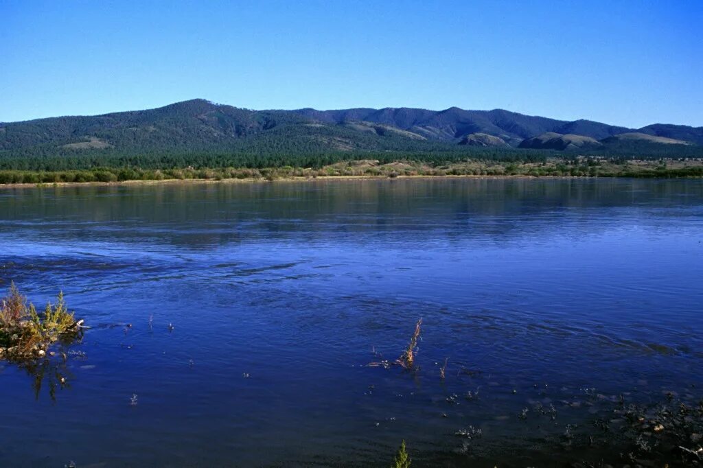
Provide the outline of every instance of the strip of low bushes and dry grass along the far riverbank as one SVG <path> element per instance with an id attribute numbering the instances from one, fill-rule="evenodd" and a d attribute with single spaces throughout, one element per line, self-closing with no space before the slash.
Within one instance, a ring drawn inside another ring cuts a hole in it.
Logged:
<path id="1" fill-rule="evenodd" d="M 703 160 L 603 160 L 576 157 L 572 160 L 544 158 L 534 161 L 463 160 L 348 160 L 321 167 L 193 167 L 145 169 L 143 167 L 95 167 L 69 170 L 0 170 L 0 184 L 114 183 L 124 181 L 252 179 L 268 180 L 317 177 L 403 176 L 532 176 L 532 177 L 703 177 Z"/>

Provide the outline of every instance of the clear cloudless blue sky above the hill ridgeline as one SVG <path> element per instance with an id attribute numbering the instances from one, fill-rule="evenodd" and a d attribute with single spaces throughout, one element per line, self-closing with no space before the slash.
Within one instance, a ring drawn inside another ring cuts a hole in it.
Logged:
<path id="1" fill-rule="evenodd" d="M 703 126 L 703 1 L 0 0 L 0 121 L 191 98 Z"/>

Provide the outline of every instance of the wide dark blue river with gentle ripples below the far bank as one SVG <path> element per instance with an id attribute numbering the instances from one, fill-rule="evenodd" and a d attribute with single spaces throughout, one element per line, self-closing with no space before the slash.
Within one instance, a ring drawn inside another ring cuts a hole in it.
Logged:
<path id="1" fill-rule="evenodd" d="M 0 466 L 675 466 L 617 408 L 703 398 L 702 241 L 697 180 L 0 190 L 0 287 L 91 326 L 0 362 Z"/>

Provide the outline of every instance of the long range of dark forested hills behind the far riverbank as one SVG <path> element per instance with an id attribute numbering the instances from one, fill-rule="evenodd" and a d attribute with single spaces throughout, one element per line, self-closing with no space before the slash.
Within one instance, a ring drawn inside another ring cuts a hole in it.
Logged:
<path id="1" fill-rule="evenodd" d="M 529 148 L 522 152 L 690 157 L 703 155 L 703 127 L 626 129 L 459 108 L 247 110 L 202 99 L 151 110 L 0 124 L 0 160 L 178 156 L 187 162 L 189 155 L 217 154 L 249 155 L 271 164 L 283 155 L 441 155 L 477 148 L 510 152 L 521 145 Z"/>

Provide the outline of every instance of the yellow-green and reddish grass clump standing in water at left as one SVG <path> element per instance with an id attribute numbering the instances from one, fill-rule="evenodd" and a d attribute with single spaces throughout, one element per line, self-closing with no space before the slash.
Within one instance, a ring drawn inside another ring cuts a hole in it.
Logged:
<path id="1" fill-rule="evenodd" d="M 82 332 L 82 320 L 68 311 L 63 293 L 56 305 L 47 303 L 43 312 L 27 305 L 14 283 L 0 301 L 0 358 L 32 360 L 46 356 L 56 342 L 72 342 Z"/>

